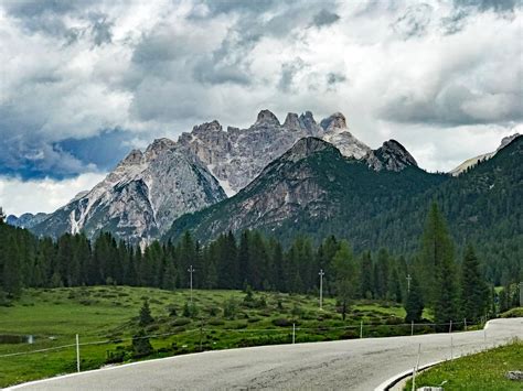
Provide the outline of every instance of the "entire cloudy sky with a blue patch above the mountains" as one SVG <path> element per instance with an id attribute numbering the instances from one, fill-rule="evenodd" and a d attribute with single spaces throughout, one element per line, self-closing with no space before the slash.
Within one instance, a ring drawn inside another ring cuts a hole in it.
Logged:
<path id="1" fill-rule="evenodd" d="M 131 148 L 341 111 L 448 171 L 523 132 L 519 0 L 1 0 L 0 205 L 52 211 Z"/>

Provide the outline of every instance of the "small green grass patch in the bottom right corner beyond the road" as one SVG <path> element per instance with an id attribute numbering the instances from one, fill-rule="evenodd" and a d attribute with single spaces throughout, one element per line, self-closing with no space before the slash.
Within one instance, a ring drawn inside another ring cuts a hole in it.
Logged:
<path id="1" fill-rule="evenodd" d="M 421 372 L 416 378 L 416 388 L 444 384 L 452 390 L 523 390 L 521 381 L 508 380 L 510 370 L 523 370 L 523 341 L 447 361 Z M 412 381 L 404 390 L 412 390 Z"/>

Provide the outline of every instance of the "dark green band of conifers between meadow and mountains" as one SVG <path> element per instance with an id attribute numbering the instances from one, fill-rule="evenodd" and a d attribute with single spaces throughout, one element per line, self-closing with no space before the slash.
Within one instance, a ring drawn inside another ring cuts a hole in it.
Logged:
<path id="1" fill-rule="evenodd" d="M 463 256 L 458 256 L 462 253 Z M 323 292 L 334 296 L 343 314 L 352 300 L 404 303 L 407 321 L 421 321 L 433 308 L 437 323 L 479 319 L 517 305 L 517 273 L 495 292 L 474 250 L 458 251 L 446 219 L 433 204 L 420 232 L 418 251 L 391 253 L 367 249 L 354 253 L 343 238 L 329 236 L 319 246 L 297 237 L 288 247 L 259 231 L 221 235 L 202 246 L 189 232 L 177 241 L 154 241 L 146 249 L 102 233 L 92 242 L 82 233 L 56 241 L 0 222 L 0 302 L 23 287 L 122 284 L 175 290 L 245 289 L 316 293 L 323 270 Z"/>

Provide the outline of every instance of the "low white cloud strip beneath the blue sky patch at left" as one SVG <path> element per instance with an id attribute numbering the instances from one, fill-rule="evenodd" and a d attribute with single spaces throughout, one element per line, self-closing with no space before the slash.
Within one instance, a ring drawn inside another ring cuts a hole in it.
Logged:
<path id="1" fill-rule="evenodd" d="M 82 174 L 75 178 L 55 181 L 22 181 L 0 176 L 0 206 L 8 215 L 51 213 L 64 206 L 79 192 L 90 189 L 105 174 Z"/>

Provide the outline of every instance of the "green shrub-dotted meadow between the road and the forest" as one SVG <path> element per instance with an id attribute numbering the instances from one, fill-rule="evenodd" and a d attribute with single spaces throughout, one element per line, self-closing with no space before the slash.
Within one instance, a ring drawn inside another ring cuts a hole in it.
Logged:
<path id="1" fill-rule="evenodd" d="M 95 369 L 113 362 L 139 359 L 132 356 L 131 338 L 139 329 L 138 313 L 143 300 L 150 303 L 154 323 L 146 327 L 154 349 L 147 358 L 193 351 L 256 345 L 288 344 L 292 323 L 296 343 L 409 334 L 403 323 L 405 311 L 394 303 L 356 302 L 345 322 L 333 298 L 324 300 L 282 293 L 254 293 L 245 302 L 241 291 L 194 291 L 198 314 L 183 316 L 190 292 L 148 287 L 93 286 L 53 290 L 25 290 L 12 306 L 0 307 L 0 387 L 73 372 L 75 347 L 1 357 L 14 352 L 105 341 L 81 347 L 82 369 Z M 234 300 L 233 314 L 224 307 Z M 175 315 L 172 315 L 172 308 Z M 373 326 L 371 326 L 371 324 Z M 420 327 L 417 333 L 428 333 Z M 34 344 L 2 344 L 2 336 L 33 335 Z M 109 343 L 107 343 L 109 341 Z M 143 358 L 140 358 L 143 359 Z"/>

